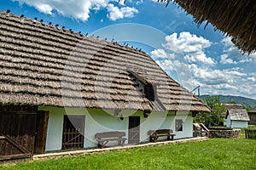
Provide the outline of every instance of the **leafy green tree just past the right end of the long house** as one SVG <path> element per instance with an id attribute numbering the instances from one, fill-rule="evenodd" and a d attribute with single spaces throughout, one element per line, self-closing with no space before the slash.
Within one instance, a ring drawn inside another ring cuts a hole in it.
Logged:
<path id="1" fill-rule="evenodd" d="M 206 127 L 218 126 L 224 122 L 222 115 L 226 111 L 226 107 L 220 102 L 220 96 L 207 96 L 205 102 L 212 109 L 212 112 L 201 112 L 195 116 L 194 121 L 202 122 Z"/>

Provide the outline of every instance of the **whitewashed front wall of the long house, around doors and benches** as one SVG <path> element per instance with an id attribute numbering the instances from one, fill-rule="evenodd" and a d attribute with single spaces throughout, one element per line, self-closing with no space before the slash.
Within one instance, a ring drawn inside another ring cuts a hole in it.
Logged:
<path id="1" fill-rule="evenodd" d="M 46 139 L 46 150 L 61 150 L 63 117 L 65 114 L 73 116 L 84 116 L 84 148 L 96 147 L 94 136 L 96 133 L 109 131 L 122 131 L 126 133 L 128 139 L 129 116 L 140 116 L 140 141 L 148 142 L 148 130 L 160 128 L 171 128 L 176 134 L 175 139 L 193 137 L 193 118 L 187 112 L 175 112 L 167 114 L 151 113 L 147 118 L 142 111 L 121 111 L 119 114 L 124 116 L 121 121 L 119 116 L 113 116 L 113 111 L 103 111 L 98 109 L 82 108 L 57 108 L 40 106 L 40 111 L 49 111 L 49 123 Z M 175 131 L 175 120 L 183 119 L 183 131 Z M 126 144 L 128 140 L 126 140 Z M 110 142 L 108 145 L 116 145 Z"/>

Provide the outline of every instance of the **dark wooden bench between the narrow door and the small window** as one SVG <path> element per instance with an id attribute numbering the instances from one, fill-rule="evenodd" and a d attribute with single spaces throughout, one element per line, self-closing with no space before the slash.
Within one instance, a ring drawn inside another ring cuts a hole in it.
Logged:
<path id="1" fill-rule="evenodd" d="M 149 130 L 149 142 L 156 142 L 159 137 L 167 137 L 167 140 L 173 140 L 175 134 L 173 134 L 172 129 L 158 129 L 158 130 Z"/>

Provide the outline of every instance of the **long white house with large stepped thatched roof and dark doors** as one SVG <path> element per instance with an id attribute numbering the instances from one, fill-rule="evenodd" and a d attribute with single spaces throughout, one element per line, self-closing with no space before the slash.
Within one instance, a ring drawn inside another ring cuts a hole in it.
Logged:
<path id="1" fill-rule="evenodd" d="M 192 116 L 210 111 L 138 49 L 9 12 L 0 41 L 0 136 L 30 153 L 96 147 L 113 131 L 125 144 L 155 129 L 191 138 Z"/>

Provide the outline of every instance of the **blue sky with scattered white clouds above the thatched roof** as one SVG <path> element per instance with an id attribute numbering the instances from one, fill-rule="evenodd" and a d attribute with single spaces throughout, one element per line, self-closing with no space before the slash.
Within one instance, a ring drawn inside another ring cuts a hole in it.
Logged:
<path id="1" fill-rule="evenodd" d="M 201 94 L 256 99 L 256 54 L 241 51 L 176 4 L 156 0 L 2 0 L 0 10 L 142 48 L 170 77 Z"/>

